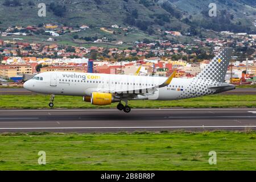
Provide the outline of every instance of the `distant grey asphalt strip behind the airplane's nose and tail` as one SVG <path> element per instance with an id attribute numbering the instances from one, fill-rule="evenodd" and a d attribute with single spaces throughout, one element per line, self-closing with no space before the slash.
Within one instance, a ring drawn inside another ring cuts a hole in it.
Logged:
<path id="1" fill-rule="evenodd" d="M 0 88 L 0 95 L 30 95 L 36 94 L 24 88 Z M 256 94 L 256 88 L 237 88 L 221 94 Z"/>

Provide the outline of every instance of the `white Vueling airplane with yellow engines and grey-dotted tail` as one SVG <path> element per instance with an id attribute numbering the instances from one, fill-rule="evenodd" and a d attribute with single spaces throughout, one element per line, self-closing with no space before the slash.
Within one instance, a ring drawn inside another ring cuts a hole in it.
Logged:
<path id="1" fill-rule="evenodd" d="M 109 75 L 101 73 L 44 72 L 24 82 L 24 88 L 36 93 L 51 94 L 49 107 L 55 95 L 82 96 L 92 105 L 110 105 L 118 102 L 117 109 L 131 111 L 130 100 L 182 100 L 207 96 L 236 86 L 225 82 L 233 49 L 224 48 L 205 68 L 192 78 Z M 125 102 L 125 105 L 122 104 Z"/>

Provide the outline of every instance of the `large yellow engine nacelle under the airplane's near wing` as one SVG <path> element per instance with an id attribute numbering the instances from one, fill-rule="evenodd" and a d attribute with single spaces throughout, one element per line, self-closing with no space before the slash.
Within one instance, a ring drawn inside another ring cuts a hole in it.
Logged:
<path id="1" fill-rule="evenodd" d="M 110 105 L 112 102 L 119 102 L 120 100 L 114 98 L 111 93 L 92 92 L 90 97 L 90 103 L 92 105 L 104 106 Z"/>

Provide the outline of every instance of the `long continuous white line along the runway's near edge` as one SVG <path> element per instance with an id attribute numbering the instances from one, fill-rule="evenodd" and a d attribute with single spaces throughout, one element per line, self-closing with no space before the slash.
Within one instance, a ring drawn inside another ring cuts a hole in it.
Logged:
<path id="1" fill-rule="evenodd" d="M 124 126 L 124 127 L 6 127 L 0 130 L 74 130 L 74 129 L 177 129 L 177 128 L 239 128 L 256 126 Z"/>

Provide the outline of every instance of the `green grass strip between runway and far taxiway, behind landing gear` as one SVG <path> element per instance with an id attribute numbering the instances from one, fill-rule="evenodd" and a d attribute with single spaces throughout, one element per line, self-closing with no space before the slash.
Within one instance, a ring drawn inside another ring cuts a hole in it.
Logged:
<path id="1" fill-rule="evenodd" d="M 49 96 L 35 95 L 2 95 L 0 96 L 1 109 L 38 109 L 47 108 Z M 55 108 L 114 108 L 117 103 L 106 106 L 94 106 L 83 102 L 82 97 L 56 96 Z M 211 95 L 176 101 L 129 101 L 133 108 L 164 108 L 164 107 L 256 107 L 256 95 Z"/>

